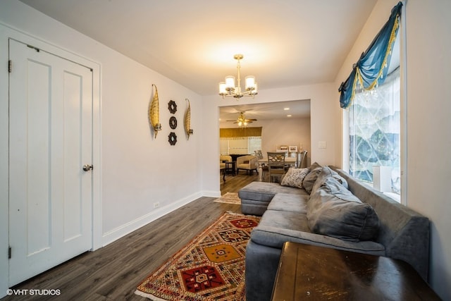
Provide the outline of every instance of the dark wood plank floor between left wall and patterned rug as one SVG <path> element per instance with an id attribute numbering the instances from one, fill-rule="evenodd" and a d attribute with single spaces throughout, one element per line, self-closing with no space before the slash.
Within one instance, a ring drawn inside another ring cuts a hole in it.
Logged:
<path id="1" fill-rule="evenodd" d="M 258 176 L 226 176 L 221 195 L 238 192 Z M 1 300 L 147 300 L 134 294 L 137 285 L 224 211 L 241 213 L 240 205 L 201 197 L 95 252 L 86 252 L 54 269 L 16 285 L 15 290 L 60 290 L 57 297 L 11 296 Z"/>

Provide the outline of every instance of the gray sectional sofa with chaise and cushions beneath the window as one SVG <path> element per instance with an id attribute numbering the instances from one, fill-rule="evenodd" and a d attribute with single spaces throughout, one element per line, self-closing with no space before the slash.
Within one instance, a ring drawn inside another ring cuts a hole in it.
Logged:
<path id="1" fill-rule="evenodd" d="M 262 215 L 246 248 L 247 301 L 271 299 L 286 241 L 401 259 L 427 281 L 425 216 L 333 166 L 299 169 L 298 183 L 253 182 L 239 192 L 242 212 Z"/>

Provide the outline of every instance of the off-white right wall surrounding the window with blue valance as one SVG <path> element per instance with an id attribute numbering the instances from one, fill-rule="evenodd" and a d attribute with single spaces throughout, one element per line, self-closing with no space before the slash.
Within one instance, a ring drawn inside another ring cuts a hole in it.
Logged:
<path id="1" fill-rule="evenodd" d="M 335 86 L 349 76 L 352 63 L 383 24 L 394 0 L 379 0 L 338 73 Z M 451 2 L 407 1 L 407 166 L 403 193 L 407 206 L 431 220 L 429 282 L 451 300 Z M 338 98 L 336 99 L 338 102 Z M 340 152 L 340 148 L 337 149 Z M 338 157 L 341 154 L 337 155 Z"/>

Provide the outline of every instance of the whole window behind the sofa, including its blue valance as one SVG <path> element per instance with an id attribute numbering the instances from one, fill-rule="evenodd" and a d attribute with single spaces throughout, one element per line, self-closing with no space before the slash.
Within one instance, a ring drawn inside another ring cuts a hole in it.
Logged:
<path id="1" fill-rule="evenodd" d="M 405 113 L 400 110 L 397 36 L 401 9 L 402 2 L 398 2 L 338 89 L 340 106 L 349 109 L 345 112 L 343 128 L 343 140 L 349 139 L 343 144 L 343 166 L 355 178 L 375 185 L 377 180 L 381 191 L 398 195 L 401 193 L 401 113 Z M 402 117 L 404 120 L 405 116 Z M 378 171 L 377 178 L 375 171 Z"/>

